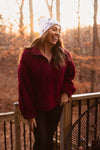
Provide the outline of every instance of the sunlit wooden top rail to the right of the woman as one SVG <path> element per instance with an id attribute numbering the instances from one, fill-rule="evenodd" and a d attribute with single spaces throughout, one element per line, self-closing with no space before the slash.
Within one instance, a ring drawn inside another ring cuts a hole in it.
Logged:
<path id="1" fill-rule="evenodd" d="M 72 95 L 72 100 L 92 99 L 92 98 L 99 98 L 99 97 L 100 97 L 100 92 L 75 94 Z"/>

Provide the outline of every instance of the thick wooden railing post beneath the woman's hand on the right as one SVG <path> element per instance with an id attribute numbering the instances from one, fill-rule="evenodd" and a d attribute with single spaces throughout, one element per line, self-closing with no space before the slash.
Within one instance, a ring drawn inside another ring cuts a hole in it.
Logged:
<path id="1" fill-rule="evenodd" d="M 71 150 L 71 137 L 68 138 L 66 148 L 66 140 L 72 127 L 72 104 L 71 98 L 69 103 L 64 104 L 61 120 L 60 120 L 60 150 Z"/>

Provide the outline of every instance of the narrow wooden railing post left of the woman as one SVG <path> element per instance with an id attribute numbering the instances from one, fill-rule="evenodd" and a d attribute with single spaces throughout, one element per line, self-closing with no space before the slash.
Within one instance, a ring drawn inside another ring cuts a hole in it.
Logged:
<path id="1" fill-rule="evenodd" d="M 21 150 L 20 119 L 19 119 L 18 103 L 14 103 L 14 122 L 15 122 L 15 150 Z"/>

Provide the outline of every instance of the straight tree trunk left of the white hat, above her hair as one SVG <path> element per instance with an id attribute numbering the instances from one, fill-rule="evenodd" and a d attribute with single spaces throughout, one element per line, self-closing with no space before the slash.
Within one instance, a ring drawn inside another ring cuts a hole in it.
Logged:
<path id="1" fill-rule="evenodd" d="M 30 12 L 30 41 L 34 38 L 34 24 L 33 24 L 33 3 L 29 0 L 29 12 Z"/>

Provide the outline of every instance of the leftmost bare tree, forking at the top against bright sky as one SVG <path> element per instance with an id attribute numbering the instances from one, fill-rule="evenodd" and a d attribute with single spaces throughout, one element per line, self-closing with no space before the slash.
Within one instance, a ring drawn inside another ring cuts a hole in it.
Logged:
<path id="1" fill-rule="evenodd" d="M 20 32 L 20 35 L 24 35 L 24 32 L 23 32 L 23 26 L 24 26 L 24 23 L 23 23 L 23 6 L 24 6 L 24 0 L 21 0 L 21 2 L 19 2 L 18 0 L 16 0 L 16 2 L 18 4 L 19 11 L 20 11 L 19 32 Z"/>

